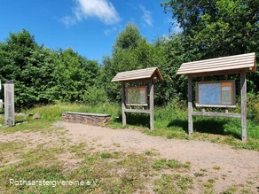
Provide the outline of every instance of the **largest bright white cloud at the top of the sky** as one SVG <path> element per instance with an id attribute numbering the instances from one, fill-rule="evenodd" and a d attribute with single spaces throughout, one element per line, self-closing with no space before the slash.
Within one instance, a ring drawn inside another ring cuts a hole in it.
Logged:
<path id="1" fill-rule="evenodd" d="M 74 0 L 73 17 L 60 19 L 67 27 L 75 25 L 83 19 L 98 18 L 106 25 L 112 25 L 121 20 L 114 5 L 109 0 Z"/>

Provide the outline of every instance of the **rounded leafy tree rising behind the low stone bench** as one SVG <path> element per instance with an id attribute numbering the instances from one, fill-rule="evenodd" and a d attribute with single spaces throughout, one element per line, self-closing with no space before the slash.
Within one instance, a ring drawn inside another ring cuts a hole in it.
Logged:
<path id="1" fill-rule="evenodd" d="M 94 86 L 99 74 L 98 62 L 82 58 L 68 48 L 59 50 L 54 75 L 58 99 L 66 102 L 82 102 L 87 89 Z"/>

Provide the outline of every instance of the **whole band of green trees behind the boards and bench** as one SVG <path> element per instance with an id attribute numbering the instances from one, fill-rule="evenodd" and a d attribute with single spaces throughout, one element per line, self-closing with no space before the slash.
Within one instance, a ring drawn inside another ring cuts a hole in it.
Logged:
<path id="1" fill-rule="evenodd" d="M 259 61 L 257 0 L 174 0 L 161 6 L 177 20 L 181 33 L 148 43 L 138 27 L 128 23 L 111 45 L 112 55 L 104 56 L 101 63 L 72 48 L 46 48 L 26 29 L 10 32 L 0 42 L 0 80 L 13 81 L 16 109 L 57 102 L 121 102 L 121 84 L 111 82 L 114 75 L 153 66 L 163 76 L 155 85 L 155 105 L 186 102 L 187 78 L 177 75 L 182 63 L 250 52 Z M 258 71 L 247 74 L 247 92 L 248 103 L 253 103 L 250 116 L 259 121 Z"/>

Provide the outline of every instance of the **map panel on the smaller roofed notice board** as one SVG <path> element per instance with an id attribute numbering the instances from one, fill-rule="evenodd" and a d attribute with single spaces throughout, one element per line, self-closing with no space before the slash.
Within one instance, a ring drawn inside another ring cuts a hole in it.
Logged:
<path id="1" fill-rule="evenodd" d="M 127 104 L 146 104 L 146 87 L 128 87 Z"/>

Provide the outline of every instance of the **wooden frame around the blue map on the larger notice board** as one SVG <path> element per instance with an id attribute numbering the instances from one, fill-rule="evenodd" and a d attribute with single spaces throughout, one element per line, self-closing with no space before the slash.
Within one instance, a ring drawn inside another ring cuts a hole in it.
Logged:
<path id="1" fill-rule="evenodd" d="M 204 104 L 200 102 L 200 85 L 219 85 L 219 101 L 218 104 Z M 223 88 L 231 89 L 231 103 L 223 103 Z M 236 107 L 236 81 L 235 80 L 223 80 L 223 81 L 197 81 L 195 89 L 196 106 L 197 107 L 225 107 L 225 108 L 235 108 Z"/>

